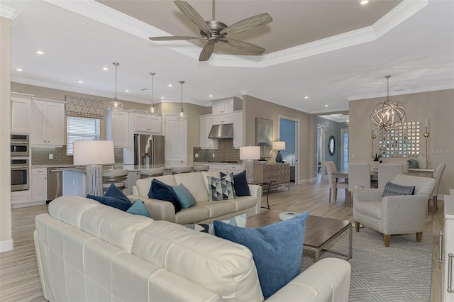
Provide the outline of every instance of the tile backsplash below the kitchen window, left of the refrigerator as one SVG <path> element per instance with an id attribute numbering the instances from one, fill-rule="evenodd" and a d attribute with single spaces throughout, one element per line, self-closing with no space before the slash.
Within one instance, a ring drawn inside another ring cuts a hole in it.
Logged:
<path id="1" fill-rule="evenodd" d="M 49 155 L 53 159 L 49 159 Z M 123 164 L 123 149 L 115 148 L 115 163 Z M 31 147 L 31 164 L 34 166 L 43 164 L 73 164 L 72 155 L 66 155 L 66 146 L 63 147 Z"/>

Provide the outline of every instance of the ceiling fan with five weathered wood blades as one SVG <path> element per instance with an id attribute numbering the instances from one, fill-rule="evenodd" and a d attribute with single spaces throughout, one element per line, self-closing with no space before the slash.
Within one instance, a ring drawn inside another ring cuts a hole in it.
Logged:
<path id="1" fill-rule="evenodd" d="M 216 43 L 224 43 L 225 45 L 234 47 L 238 50 L 243 50 L 248 55 L 262 55 L 265 52 L 265 48 L 258 45 L 253 45 L 240 40 L 233 40 L 226 38 L 230 35 L 237 33 L 243 33 L 253 28 L 264 26 L 272 21 L 271 16 L 268 13 L 260 13 L 256 16 L 245 18 L 242 21 L 227 26 L 221 21 L 215 21 L 214 19 L 214 0 L 213 0 L 213 20 L 205 21 L 199 13 L 191 6 L 187 1 L 173 1 L 184 16 L 187 16 L 192 23 L 200 29 L 201 37 L 184 37 L 184 36 L 168 36 L 168 37 L 150 37 L 152 41 L 165 41 L 165 40 L 208 40 L 201 50 L 199 61 L 206 61 L 209 59 L 214 50 Z"/>

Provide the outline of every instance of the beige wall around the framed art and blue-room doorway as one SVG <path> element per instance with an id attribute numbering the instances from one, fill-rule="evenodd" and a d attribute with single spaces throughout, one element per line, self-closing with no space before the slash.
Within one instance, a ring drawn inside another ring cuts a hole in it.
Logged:
<path id="1" fill-rule="evenodd" d="M 279 116 L 299 120 L 299 181 L 309 181 L 310 175 L 310 151 L 313 142 L 310 135 L 309 122 L 311 116 L 308 113 L 280 106 L 269 101 L 257 99 L 253 96 L 243 96 L 243 139 L 245 145 L 255 145 L 255 118 L 267 118 L 273 121 L 273 141 L 279 139 Z M 273 151 L 272 161 L 275 160 L 276 152 Z"/>

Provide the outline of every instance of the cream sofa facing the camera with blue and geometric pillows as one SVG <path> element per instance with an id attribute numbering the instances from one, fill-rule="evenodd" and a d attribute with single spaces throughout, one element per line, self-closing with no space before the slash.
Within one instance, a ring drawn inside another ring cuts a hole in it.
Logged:
<path id="1" fill-rule="evenodd" d="M 220 177 L 219 172 L 193 172 L 139 179 L 133 186 L 133 195 L 128 198 L 131 201 L 140 198 L 154 220 L 167 220 L 180 224 L 211 223 L 215 219 L 223 220 L 240 214 L 251 216 L 260 213 L 261 186 L 249 185 L 251 196 L 241 196 L 225 201 L 209 201 L 208 175 Z M 153 179 L 159 179 L 170 186 L 184 184 L 196 199 L 196 206 L 184 208 L 175 213 L 172 203 L 148 198 L 148 191 Z"/>

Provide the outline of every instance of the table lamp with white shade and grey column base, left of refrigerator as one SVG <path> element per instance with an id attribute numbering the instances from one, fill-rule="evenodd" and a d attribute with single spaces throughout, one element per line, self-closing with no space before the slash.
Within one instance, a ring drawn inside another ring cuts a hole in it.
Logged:
<path id="1" fill-rule="evenodd" d="M 114 142 L 111 140 L 83 140 L 74 142 L 74 166 L 87 165 L 87 193 L 103 196 L 102 166 L 113 164 Z"/>

